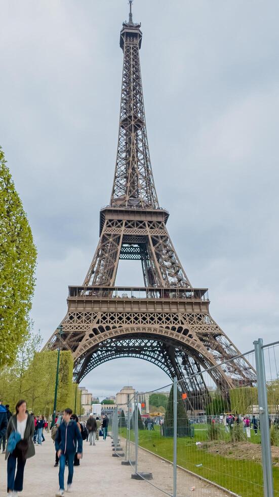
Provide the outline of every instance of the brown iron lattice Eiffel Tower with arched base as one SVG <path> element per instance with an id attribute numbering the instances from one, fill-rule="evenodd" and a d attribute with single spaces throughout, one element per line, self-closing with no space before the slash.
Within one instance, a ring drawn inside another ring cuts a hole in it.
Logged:
<path id="1" fill-rule="evenodd" d="M 209 313 L 208 290 L 193 288 L 167 231 L 147 141 L 139 51 L 141 24 L 123 23 L 118 146 L 110 203 L 100 211 L 100 239 L 82 286 L 70 286 L 67 314 L 45 349 L 70 350 L 80 382 L 116 358 L 149 361 L 192 392 L 251 384 L 254 370 Z M 115 287 L 119 260 L 141 261 L 144 287 Z M 234 359 L 235 358 L 235 359 Z M 221 365 L 231 359 L 229 364 Z M 194 375 L 194 376 L 193 376 Z"/>

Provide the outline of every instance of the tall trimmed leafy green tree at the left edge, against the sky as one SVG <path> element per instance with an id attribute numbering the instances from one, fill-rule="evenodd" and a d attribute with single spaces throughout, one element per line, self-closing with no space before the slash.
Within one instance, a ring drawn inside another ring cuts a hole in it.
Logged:
<path id="1" fill-rule="evenodd" d="M 36 248 L 0 148 L 0 368 L 11 365 L 29 331 Z"/>

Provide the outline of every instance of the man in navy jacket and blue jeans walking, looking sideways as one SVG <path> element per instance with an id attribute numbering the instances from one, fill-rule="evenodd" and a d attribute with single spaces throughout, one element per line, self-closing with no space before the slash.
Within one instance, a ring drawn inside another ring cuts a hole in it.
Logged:
<path id="1" fill-rule="evenodd" d="M 68 480 L 67 492 L 72 491 L 73 479 L 73 460 L 77 444 L 77 459 L 82 457 L 83 439 L 81 432 L 74 420 L 71 420 L 72 410 L 68 407 L 64 410 L 63 421 L 59 425 L 56 439 L 55 449 L 59 458 L 59 490 L 56 497 L 64 495 L 64 473 L 65 461 L 68 459 Z"/>

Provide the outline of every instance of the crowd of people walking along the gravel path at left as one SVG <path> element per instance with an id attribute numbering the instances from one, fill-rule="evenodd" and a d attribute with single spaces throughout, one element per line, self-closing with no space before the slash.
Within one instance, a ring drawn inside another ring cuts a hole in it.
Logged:
<path id="1" fill-rule="evenodd" d="M 59 466 L 57 497 L 65 492 L 65 467 L 68 467 L 66 491 L 71 492 L 73 467 L 80 464 L 84 441 L 96 445 L 100 436 L 106 440 L 108 424 L 107 415 L 102 419 L 90 415 L 86 423 L 79 421 L 70 408 L 64 409 L 55 418 L 51 437 L 55 445 L 54 466 Z M 42 445 L 45 441 L 44 430 L 48 430 L 48 421 L 43 415 L 29 413 L 25 400 L 17 403 L 15 414 L 12 414 L 9 405 L 3 405 L 0 400 L 0 443 L 7 460 L 7 492 L 11 497 L 18 497 L 18 492 L 23 490 L 26 460 L 35 455 L 35 444 Z"/>

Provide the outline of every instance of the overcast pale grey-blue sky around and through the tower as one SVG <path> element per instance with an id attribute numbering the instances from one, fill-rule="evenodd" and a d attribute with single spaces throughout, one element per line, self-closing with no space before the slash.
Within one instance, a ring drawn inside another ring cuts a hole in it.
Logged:
<path id="1" fill-rule="evenodd" d="M 135 0 L 156 190 L 194 287 L 242 350 L 278 333 L 279 3 Z M 0 144 L 38 249 L 32 317 L 46 341 L 81 285 L 115 164 L 126 0 L 0 0 Z M 122 261 L 118 285 L 141 285 Z M 168 383 L 136 359 L 94 395 Z"/>

